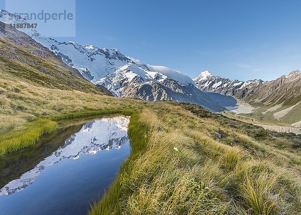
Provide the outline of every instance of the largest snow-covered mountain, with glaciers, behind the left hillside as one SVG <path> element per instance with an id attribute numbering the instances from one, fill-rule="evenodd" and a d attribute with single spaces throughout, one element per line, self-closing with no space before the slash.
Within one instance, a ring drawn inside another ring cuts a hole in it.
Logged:
<path id="1" fill-rule="evenodd" d="M 8 24 L 27 23 L 23 18 L 4 10 L 0 10 L 0 21 Z M 150 101 L 173 99 L 195 103 L 213 112 L 225 110 L 199 90 L 189 76 L 179 71 L 140 63 L 117 49 L 83 46 L 72 41 L 59 42 L 40 35 L 34 29 L 19 30 L 60 56 L 86 79 L 106 87 L 116 96 Z"/>

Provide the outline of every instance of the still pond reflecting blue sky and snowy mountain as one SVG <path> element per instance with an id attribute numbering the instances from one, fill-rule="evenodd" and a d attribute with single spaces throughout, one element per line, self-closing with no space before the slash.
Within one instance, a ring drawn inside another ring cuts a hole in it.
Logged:
<path id="1" fill-rule="evenodd" d="M 130 154 L 129 117 L 73 123 L 0 157 L 0 214 L 86 214 Z"/>

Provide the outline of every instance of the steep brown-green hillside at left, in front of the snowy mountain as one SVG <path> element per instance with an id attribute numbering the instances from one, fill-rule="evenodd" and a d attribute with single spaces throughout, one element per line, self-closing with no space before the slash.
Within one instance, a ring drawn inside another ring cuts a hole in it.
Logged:
<path id="1" fill-rule="evenodd" d="M 3 78 L 19 79 L 56 89 L 101 93 L 60 57 L 37 43 L 28 35 L 0 22 L 0 72 Z"/>

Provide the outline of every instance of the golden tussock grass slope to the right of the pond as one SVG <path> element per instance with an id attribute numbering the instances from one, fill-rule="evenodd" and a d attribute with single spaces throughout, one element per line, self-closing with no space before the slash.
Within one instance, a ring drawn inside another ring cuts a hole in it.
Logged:
<path id="1" fill-rule="evenodd" d="M 147 103 L 136 120 L 146 128 L 147 148 L 126 161 L 90 214 L 301 212 L 296 136 L 176 102 Z"/>

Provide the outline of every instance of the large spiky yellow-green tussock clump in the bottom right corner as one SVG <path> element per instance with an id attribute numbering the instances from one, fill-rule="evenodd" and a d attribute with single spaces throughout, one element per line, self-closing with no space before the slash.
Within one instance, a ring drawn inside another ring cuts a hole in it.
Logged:
<path id="1" fill-rule="evenodd" d="M 231 189 L 252 214 L 285 213 L 291 205 L 286 202 L 285 186 L 280 183 L 283 176 L 288 176 L 285 169 L 272 163 L 249 160 L 240 163 L 233 171 Z"/>

